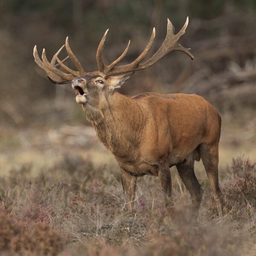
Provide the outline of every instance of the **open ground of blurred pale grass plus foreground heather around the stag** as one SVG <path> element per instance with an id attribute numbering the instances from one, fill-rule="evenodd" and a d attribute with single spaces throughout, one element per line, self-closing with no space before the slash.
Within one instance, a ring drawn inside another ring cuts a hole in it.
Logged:
<path id="1" fill-rule="evenodd" d="M 1 255 L 255 255 L 255 119 L 246 127 L 225 120 L 219 172 L 226 214 L 216 216 L 198 163 L 204 196 L 197 223 L 175 168 L 173 209 L 163 207 L 159 180 L 145 176 L 136 213 L 125 212 L 119 166 L 88 125 L 3 129 Z"/>

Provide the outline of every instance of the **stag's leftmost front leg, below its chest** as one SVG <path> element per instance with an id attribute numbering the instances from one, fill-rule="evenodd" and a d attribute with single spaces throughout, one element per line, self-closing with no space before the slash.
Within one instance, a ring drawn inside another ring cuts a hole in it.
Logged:
<path id="1" fill-rule="evenodd" d="M 125 195 L 125 208 L 131 211 L 134 207 L 137 177 L 130 175 L 121 168 L 121 182 Z"/>

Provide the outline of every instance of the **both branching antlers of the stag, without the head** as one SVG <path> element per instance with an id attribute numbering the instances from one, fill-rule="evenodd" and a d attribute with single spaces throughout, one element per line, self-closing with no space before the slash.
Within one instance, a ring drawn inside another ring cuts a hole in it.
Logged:
<path id="1" fill-rule="evenodd" d="M 113 76 L 117 74 L 122 74 L 122 73 L 128 73 L 128 72 L 135 72 L 137 70 L 143 70 L 148 67 L 153 66 L 157 61 L 159 61 L 163 56 L 165 56 L 167 53 L 171 51 L 182 51 L 185 52 L 189 57 L 193 60 L 194 57 L 193 55 L 189 52 L 190 49 L 187 49 L 180 44 L 178 44 L 179 39 L 184 35 L 186 27 L 188 26 L 189 23 L 189 17 L 186 18 L 186 23 L 184 24 L 183 28 L 180 29 L 180 31 L 174 35 L 174 27 L 172 26 L 172 23 L 169 19 L 167 19 L 167 34 L 166 38 L 163 41 L 163 44 L 160 46 L 160 48 L 157 50 L 157 52 L 151 56 L 148 60 L 144 61 L 141 63 L 141 61 L 145 58 L 145 56 L 148 54 L 149 50 L 151 49 L 153 43 L 154 43 L 154 37 L 155 37 L 155 29 L 152 31 L 151 38 L 148 41 L 148 44 L 146 45 L 145 49 L 143 52 L 130 64 L 122 65 L 122 66 L 117 66 L 120 61 L 122 61 L 123 58 L 125 58 L 126 53 L 128 52 L 129 46 L 130 46 L 130 41 L 128 42 L 127 47 L 125 48 L 124 52 L 111 64 L 108 66 L 105 66 L 102 60 L 102 50 L 103 46 L 105 43 L 106 36 L 108 34 L 108 29 L 105 32 L 102 40 L 99 43 L 99 47 L 97 49 L 97 64 L 99 71 L 104 73 L 105 76 Z M 67 51 L 67 58 L 64 60 L 60 60 L 58 58 L 58 54 L 61 52 L 63 48 L 66 48 Z M 55 84 L 66 84 L 75 79 L 76 77 L 83 76 L 86 74 L 84 69 L 82 68 L 80 62 L 70 49 L 70 45 L 68 42 L 68 37 L 66 39 L 66 43 L 58 50 L 58 52 L 53 55 L 51 62 L 47 60 L 45 49 L 43 49 L 42 53 L 42 60 L 39 58 L 36 45 L 34 47 L 34 57 L 35 57 L 35 62 L 38 64 L 39 67 L 41 67 L 45 73 L 47 74 L 48 78 L 50 81 L 52 81 Z M 71 61 L 73 61 L 73 64 L 75 65 L 76 70 L 72 70 L 69 67 L 67 67 L 64 62 L 70 58 Z M 55 65 L 55 62 L 58 62 L 58 64 Z M 64 73 L 58 68 L 62 67 L 64 70 L 66 70 L 68 73 Z"/>

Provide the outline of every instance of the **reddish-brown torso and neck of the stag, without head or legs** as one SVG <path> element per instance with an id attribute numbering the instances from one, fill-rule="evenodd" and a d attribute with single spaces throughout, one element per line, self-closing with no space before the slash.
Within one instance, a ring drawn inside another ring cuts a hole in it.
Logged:
<path id="1" fill-rule="evenodd" d="M 99 140 L 136 176 L 157 176 L 163 163 L 171 167 L 190 156 L 199 160 L 198 146 L 220 137 L 220 116 L 197 95 L 115 92 L 101 113 L 100 121 L 90 119 Z"/>

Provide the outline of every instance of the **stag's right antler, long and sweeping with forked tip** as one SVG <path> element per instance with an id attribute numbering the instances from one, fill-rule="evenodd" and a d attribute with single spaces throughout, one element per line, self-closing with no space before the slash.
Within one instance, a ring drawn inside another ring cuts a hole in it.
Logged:
<path id="1" fill-rule="evenodd" d="M 104 42 L 106 39 L 106 35 L 108 33 L 108 30 L 107 30 L 99 44 L 99 47 L 97 50 L 97 55 L 96 55 L 99 71 L 103 72 L 106 76 L 112 76 L 112 75 L 117 75 L 117 74 L 121 74 L 121 73 L 128 73 L 128 72 L 134 72 L 137 70 L 143 70 L 143 69 L 153 66 L 155 63 L 157 63 L 157 61 L 159 61 L 161 58 L 163 58 L 163 56 L 165 56 L 167 53 L 169 53 L 171 51 L 185 52 L 193 60 L 194 56 L 189 52 L 190 49 L 187 49 L 177 43 L 179 41 L 179 39 L 182 37 L 182 35 L 184 35 L 184 33 L 185 33 L 186 27 L 188 26 L 188 23 L 189 23 L 189 17 L 186 18 L 186 23 L 184 24 L 183 28 L 180 29 L 180 31 L 176 35 L 174 35 L 174 27 L 172 26 L 171 21 L 169 19 L 167 19 L 167 21 L 168 21 L 168 23 L 167 23 L 166 38 L 163 41 L 163 44 L 160 46 L 160 48 L 157 50 L 157 52 L 153 56 L 151 56 L 151 58 L 140 63 L 143 60 L 143 58 L 145 58 L 145 56 L 147 55 L 148 51 L 151 49 L 151 47 L 154 43 L 155 29 L 153 29 L 151 38 L 150 38 L 147 46 L 143 50 L 143 52 L 139 55 L 139 57 L 136 58 L 130 64 L 126 64 L 126 65 L 122 65 L 122 66 L 118 66 L 118 67 L 115 67 L 115 65 L 117 63 L 119 63 L 125 57 L 125 55 L 128 51 L 128 48 L 129 48 L 130 41 L 129 41 L 125 51 L 122 53 L 122 55 L 120 55 L 120 57 L 117 58 L 115 61 L 113 61 L 110 65 L 105 67 L 105 65 L 102 61 L 102 49 L 103 49 L 103 45 L 104 45 Z"/>

